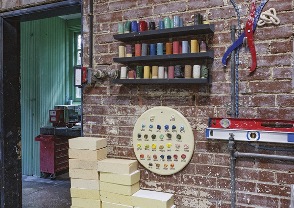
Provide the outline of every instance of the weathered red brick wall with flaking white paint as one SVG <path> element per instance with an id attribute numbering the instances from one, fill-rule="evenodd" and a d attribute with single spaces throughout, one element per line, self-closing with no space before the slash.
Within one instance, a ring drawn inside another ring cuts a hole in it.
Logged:
<path id="1" fill-rule="evenodd" d="M 51 0 L 2 0 L 1 10 L 21 8 Z M 205 15 L 215 24 L 214 36 L 202 36 L 215 50 L 208 63 L 212 85 L 113 85 L 99 81 L 84 89 L 84 134 L 106 137 L 111 157 L 135 159 L 132 131 L 137 118 L 154 106 L 168 106 L 188 118 L 195 134 L 195 153 L 181 172 L 159 176 L 140 165 L 141 188 L 175 194 L 177 208 L 230 208 L 230 161 L 226 141 L 205 139 L 204 130 L 210 116 L 225 117 L 230 110 L 230 69 L 223 68 L 221 57 L 230 46 L 230 25 L 237 24 L 229 0 L 94 0 L 94 69 L 120 69 L 113 63 L 118 46 L 113 39 L 118 23 L 126 20 L 162 20 L 180 15 L 185 25 L 192 25 L 195 13 Z M 249 0 L 236 0 L 241 5 L 242 28 L 250 10 Z M 257 4 L 259 4 L 258 1 Z M 89 0 L 84 0 L 84 65 L 89 64 Z M 250 52 L 241 49 L 240 117 L 294 119 L 292 81 L 293 0 L 270 0 L 266 9 L 275 7 L 279 26 L 257 27 L 254 34 L 257 69 L 248 73 Z M 161 40 L 189 40 L 174 38 Z M 143 42 L 140 42 L 143 43 Z M 156 40 L 144 43 L 157 43 Z M 132 44 L 134 44 L 132 42 Z M 191 62 L 197 64 L 199 62 Z M 176 62 L 171 64 L 185 64 Z M 144 64 L 142 64 L 144 65 Z M 136 65 L 131 65 L 134 68 Z M 259 143 L 260 144 L 260 143 Z M 279 145 L 293 148 L 293 145 Z M 294 153 L 255 150 L 238 142 L 240 152 L 294 156 Z M 294 163 L 258 159 L 237 160 L 237 208 L 289 208 L 290 184 L 294 184 Z"/>

